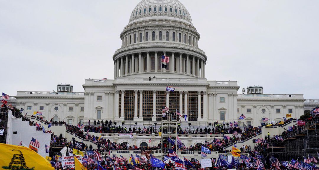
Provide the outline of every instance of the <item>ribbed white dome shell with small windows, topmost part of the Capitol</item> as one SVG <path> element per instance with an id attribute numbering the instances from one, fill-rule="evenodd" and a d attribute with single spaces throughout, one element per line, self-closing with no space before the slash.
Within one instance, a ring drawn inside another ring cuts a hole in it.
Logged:
<path id="1" fill-rule="evenodd" d="M 174 19 L 192 24 L 188 10 L 178 0 L 142 0 L 132 11 L 129 24 L 150 17 Z"/>

